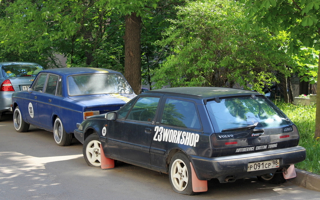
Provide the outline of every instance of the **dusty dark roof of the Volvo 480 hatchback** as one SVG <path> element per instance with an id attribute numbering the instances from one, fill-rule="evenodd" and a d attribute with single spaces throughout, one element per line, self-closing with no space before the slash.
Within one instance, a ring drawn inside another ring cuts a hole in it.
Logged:
<path id="1" fill-rule="evenodd" d="M 158 90 L 147 91 L 157 93 L 171 93 L 171 94 L 182 94 L 191 95 L 204 100 L 228 97 L 228 96 L 242 96 L 242 95 L 259 95 L 259 92 L 227 88 L 227 87 L 174 87 L 164 88 Z"/>

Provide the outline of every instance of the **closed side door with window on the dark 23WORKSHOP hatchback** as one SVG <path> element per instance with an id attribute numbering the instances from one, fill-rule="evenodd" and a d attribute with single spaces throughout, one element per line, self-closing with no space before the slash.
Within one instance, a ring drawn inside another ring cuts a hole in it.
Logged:
<path id="1" fill-rule="evenodd" d="M 150 164 L 159 100 L 160 97 L 141 96 L 132 108 L 127 104 L 119 110 L 117 119 L 108 125 L 108 149 L 112 156 L 128 163 Z"/>

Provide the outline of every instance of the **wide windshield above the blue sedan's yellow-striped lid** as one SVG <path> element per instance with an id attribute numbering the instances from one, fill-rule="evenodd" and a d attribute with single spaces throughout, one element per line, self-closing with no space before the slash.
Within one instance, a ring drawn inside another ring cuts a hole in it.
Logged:
<path id="1" fill-rule="evenodd" d="M 120 74 L 93 73 L 68 76 L 70 96 L 89 94 L 133 93 L 128 82 Z"/>

